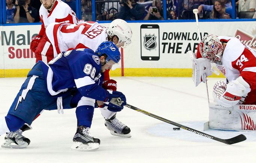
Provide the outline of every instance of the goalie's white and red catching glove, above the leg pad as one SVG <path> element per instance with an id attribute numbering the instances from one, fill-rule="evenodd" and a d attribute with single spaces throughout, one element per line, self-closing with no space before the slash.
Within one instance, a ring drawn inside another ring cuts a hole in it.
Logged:
<path id="1" fill-rule="evenodd" d="M 213 88 L 214 101 L 224 108 L 243 102 L 243 99 L 251 91 L 250 85 L 239 76 L 236 80 L 230 81 L 227 85 L 224 82 L 217 82 Z"/>

